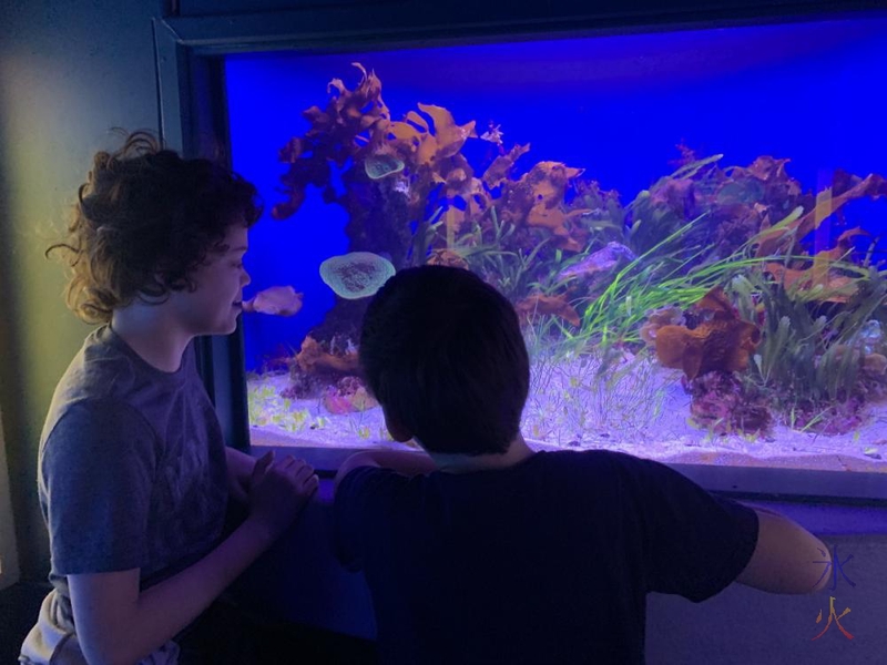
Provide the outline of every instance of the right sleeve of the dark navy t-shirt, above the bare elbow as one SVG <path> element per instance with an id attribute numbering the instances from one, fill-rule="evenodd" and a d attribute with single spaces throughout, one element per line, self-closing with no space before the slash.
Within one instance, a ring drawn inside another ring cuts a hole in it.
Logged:
<path id="1" fill-rule="evenodd" d="M 736 580 L 757 545 L 757 513 L 655 462 L 619 456 L 646 590 L 699 603 Z"/>

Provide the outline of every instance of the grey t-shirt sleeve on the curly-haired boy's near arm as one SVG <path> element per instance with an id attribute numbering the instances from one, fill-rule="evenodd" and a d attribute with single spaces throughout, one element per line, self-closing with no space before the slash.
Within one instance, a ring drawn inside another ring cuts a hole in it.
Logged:
<path id="1" fill-rule="evenodd" d="M 41 454 L 53 571 L 141 567 L 156 439 L 123 402 L 79 402 L 55 423 Z"/>

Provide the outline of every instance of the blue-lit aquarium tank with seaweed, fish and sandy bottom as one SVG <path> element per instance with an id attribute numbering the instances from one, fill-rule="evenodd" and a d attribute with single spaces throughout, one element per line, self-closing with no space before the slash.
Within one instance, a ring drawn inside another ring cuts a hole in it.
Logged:
<path id="1" fill-rule="evenodd" d="M 231 158 L 265 205 L 252 443 L 404 446 L 360 320 L 443 264 L 520 316 L 534 448 L 887 470 L 885 71 L 871 17 L 227 54 Z"/>

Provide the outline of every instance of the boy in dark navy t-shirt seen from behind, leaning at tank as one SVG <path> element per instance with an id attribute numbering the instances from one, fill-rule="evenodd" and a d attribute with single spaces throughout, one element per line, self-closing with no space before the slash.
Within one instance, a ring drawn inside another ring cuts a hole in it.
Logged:
<path id="1" fill-rule="evenodd" d="M 643 663 L 649 592 L 815 591 L 826 548 L 776 513 L 655 461 L 533 452 L 518 317 L 476 275 L 395 275 L 360 360 L 392 438 L 427 453 L 357 453 L 336 477 L 336 545 L 384 662 Z"/>

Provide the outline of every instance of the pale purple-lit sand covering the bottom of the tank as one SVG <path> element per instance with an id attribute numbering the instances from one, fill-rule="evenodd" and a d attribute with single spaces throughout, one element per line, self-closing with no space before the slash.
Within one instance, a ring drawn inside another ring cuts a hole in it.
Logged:
<path id="1" fill-rule="evenodd" d="M 605 449 L 673 463 L 887 472 L 887 403 L 861 427 L 825 436 L 774 424 L 766 436 L 716 434 L 689 419 L 681 372 L 650 362 L 615 370 L 606 386 L 588 359 L 536 362 L 522 431 L 538 450 Z M 410 449 L 388 437 L 378 407 L 330 413 L 320 399 L 286 399 L 286 374 L 247 381 L 254 446 Z"/>

